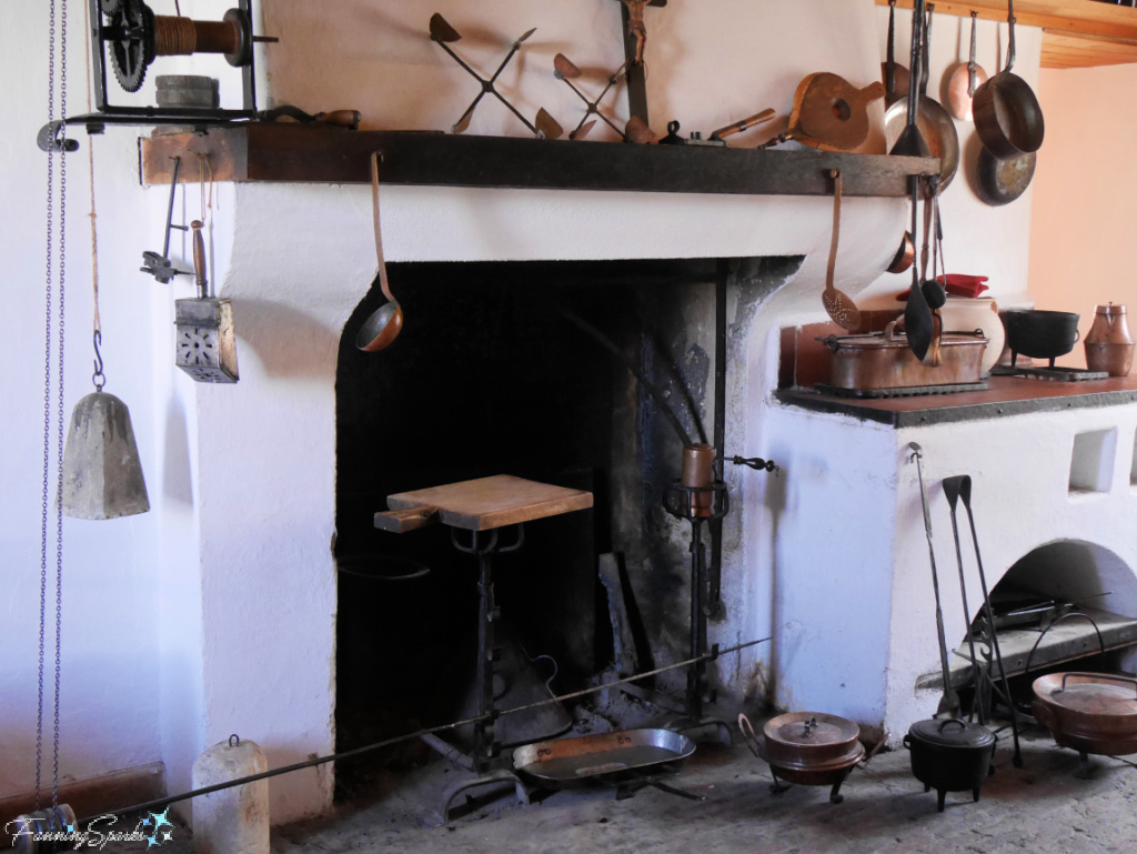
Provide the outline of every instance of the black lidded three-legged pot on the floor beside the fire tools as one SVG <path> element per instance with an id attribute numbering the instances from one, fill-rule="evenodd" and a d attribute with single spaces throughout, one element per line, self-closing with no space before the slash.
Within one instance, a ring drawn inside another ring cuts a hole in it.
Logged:
<path id="1" fill-rule="evenodd" d="M 936 789 L 937 810 L 944 812 L 944 796 L 948 791 L 970 789 L 973 799 L 979 799 L 997 740 L 982 724 L 958 718 L 932 718 L 913 723 L 904 737 L 904 746 L 911 754 L 912 776 L 924 785 L 924 791 Z"/>

